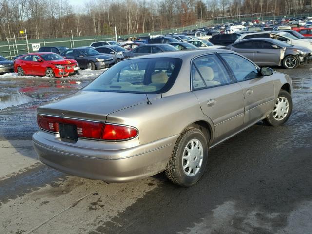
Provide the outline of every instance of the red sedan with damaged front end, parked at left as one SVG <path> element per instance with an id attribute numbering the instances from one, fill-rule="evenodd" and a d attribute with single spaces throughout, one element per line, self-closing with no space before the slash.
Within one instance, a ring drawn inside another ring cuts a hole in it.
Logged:
<path id="1" fill-rule="evenodd" d="M 14 60 L 14 72 L 19 76 L 66 77 L 77 73 L 79 69 L 76 60 L 64 59 L 51 52 L 31 53 Z"/>

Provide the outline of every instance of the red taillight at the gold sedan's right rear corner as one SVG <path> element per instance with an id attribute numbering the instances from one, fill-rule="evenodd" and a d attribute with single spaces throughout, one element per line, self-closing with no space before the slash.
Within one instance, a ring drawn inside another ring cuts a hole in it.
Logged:
<path id="1" fill-rule="evenodd" d="M 102 140 L 127 140 L 137 137 L 137 129 L 124 126 L 106 123 L 102 133 Z"/>

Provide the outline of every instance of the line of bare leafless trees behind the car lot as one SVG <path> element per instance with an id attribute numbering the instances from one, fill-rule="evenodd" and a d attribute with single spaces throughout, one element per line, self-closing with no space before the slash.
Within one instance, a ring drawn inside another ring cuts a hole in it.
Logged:
<path id="1" fill-rule="evenodd" d="M 303 13 L 312 0 L 0 0 L 0 38 L 152 33 L 212 18 Z"/>

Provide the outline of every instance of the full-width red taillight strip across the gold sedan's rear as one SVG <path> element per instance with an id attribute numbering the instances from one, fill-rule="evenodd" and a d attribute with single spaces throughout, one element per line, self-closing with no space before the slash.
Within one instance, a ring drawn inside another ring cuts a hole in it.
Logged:
<path id="1" fill-rule="evenodd" d="M 78 137 L 98 140 L 128 140 L 137 137 L 138 131 L 134 127 L 102 123 L 96 121 L 70 119 L 63 117 L 37 115 L 37 123 L 43 130 L 58 133 L 59 123 L 71 124 L 77 127 Z"/>

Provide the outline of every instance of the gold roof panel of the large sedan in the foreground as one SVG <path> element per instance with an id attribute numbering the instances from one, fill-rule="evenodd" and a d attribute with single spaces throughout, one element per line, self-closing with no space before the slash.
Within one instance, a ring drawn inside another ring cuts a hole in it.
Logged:
<path id="1" fill-rule="evenodd" d="M 164 58 L 164 57 L 165 58 L 183 59 L 183 58 L 187 58 L 189 56 L 196 57 L 196 56 L 200 56 L 200 55 L 213 54 L 216 52 L 226 52 L 226 53 L 237 54 L 231 50 L 223 50 L 223 49 L 176 50 L 176 51 L 154 53 L 154 54 L 149 54 L 149 55 L 142 55 L 139 57 L 132 57 L 129 59 L 148 59 L 148 58 Z"/>

